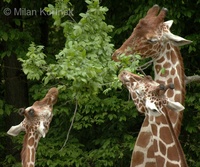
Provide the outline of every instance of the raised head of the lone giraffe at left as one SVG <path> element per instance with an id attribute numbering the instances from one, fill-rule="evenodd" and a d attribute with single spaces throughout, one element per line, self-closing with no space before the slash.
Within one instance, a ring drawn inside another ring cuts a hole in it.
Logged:
<path id="1" fill-rule="evenodd" d="M 21 131 L 28 133 L 32 129 L 40 136 L 45 137 L 53 117 L 52 110 L 57 97 L 57 88 L 51 88 L 42 100 L 36 101 L 26 109 L 21 109 L 20 114 L 25 117 L 24 120 L 19 125 L 12 126 L 7 133 L 17 136 Z"/>

